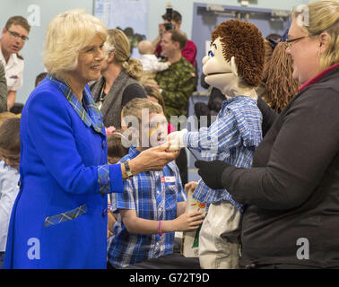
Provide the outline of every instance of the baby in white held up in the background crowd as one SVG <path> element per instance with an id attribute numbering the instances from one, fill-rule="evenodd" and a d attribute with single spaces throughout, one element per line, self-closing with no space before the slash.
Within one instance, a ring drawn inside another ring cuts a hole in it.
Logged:
<path id="1" fill-rule="evenodd" d="M 170 62 L 159 62 L 154 55 L 154 47 L 151 41 L 143 40 L 138 45 L 139 54 L 142 56 L 140 62 L 143 65 L 144 72 L 157 73 L 163 70 L 167 70 L 170 66 Z"/>

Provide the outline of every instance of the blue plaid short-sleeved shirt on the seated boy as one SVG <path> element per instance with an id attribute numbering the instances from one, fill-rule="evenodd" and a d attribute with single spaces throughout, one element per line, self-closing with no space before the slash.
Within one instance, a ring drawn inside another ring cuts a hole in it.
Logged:
<path id="1" fill-rule="evenodd" d="M 135 158 L 140 152 L 130 147 L 129 153 L 119 162 Z M 178 202 L 186 201 L 178 167 L 171 161 L 161 171 L 139 173 L 124 182 L 123 194 L 112 194 L 112 210 L 133 209 L 139 218 L 153 221 L 170 221 L 177 217 Z M 109 263 L 116 268 L 126 267 L 149 258 L 162 257 L 173 251 L 174 232 L 135 234 L 126 230 L 120 213 L 114 225 L 109 246 Z"/>

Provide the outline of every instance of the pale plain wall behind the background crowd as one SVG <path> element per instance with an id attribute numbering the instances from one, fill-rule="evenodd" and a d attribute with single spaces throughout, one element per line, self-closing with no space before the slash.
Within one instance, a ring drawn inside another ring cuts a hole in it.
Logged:
<path id="1" fill-rule="evenodd" d="M 38 26 L 31 27 L 30 40 L 22 49 L 25 58 L 25 70 L 22 89 L 18 91 L 17 102 L 25 102 L 34 88 L 35 77 L 44 71 L 41 53 L 45 38 L 45 32 L 50 22 L 58 13 L 66 10 L 82 8 L 87 13 L 93 13 L 95 0 L 1 0 L 0 25 L 4 27 L 7 19 L 13 15 L 22 15 L 26 18 L 34 16 L 37 11 L 28 11 L 30 8 L 39 9 Z M 158 24 L 162 22 L 161 15 L 165 13 L 169 0 L 149 0 L 148 39 L 154 39 L 158 34 Z M 237 0 L 171 0 L 175 10 L 183 16 L 182 30 L 187 32 L 188 38 L 192 33 L 193 6 L 195 2 L 209 4 L 239 5 Z M 257 0 L 256 8 L 290 10 L 298 4 L 307 4 L 309 0 Z M 35 4 L 36 6 L 31 6 Z"/>

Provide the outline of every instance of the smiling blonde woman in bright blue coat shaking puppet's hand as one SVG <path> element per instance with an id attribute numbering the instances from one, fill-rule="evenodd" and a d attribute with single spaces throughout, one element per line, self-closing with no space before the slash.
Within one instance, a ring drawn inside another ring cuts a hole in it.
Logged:
<path id="1" fill-rule="evenodd" d="M 4 268 L 106 268 L 107 194 L 178 154 L 158 147 L 108 165 L 105 128 L 87 85 L 100 77 L 107 30 L 74 10 L 57 15 L 46 37 L 48 76 L 22 110 L 20 192 Z"/>

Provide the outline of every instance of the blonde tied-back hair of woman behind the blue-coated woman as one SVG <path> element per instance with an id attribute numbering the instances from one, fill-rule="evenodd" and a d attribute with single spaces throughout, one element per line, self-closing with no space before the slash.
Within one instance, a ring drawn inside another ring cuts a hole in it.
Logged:
<path id="1" fill-rule="evenodd" d="M 114 61 L 122 65 L 123 71 L 135 80 L 139 80 L 143 73 L 143 65 L 139 60 L 131 58 L 130 44 L 125 33 L 118 29 L 109 29 L 109 36 L 105 43 L 107 52 L 114 53 Z"/>

